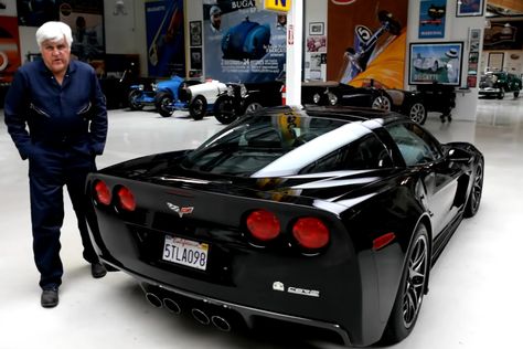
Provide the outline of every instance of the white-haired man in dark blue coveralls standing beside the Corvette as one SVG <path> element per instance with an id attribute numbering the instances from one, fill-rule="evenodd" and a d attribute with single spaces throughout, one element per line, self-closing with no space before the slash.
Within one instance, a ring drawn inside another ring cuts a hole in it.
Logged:
<path id="1" fill-rule="evenodd" d="M 94 277 L 105 267 L 93 248 L 86 224 L 85 179 L 96 170 L 107 136 L 107 110 L 94 70 L 71 61 L 71 28 L 46 22 L 36 31 L 42 60 L 23 65 L 6 96 L 8 131 L 22 159 L 29 159 L 33 253 L 40 272 L 41 305 L 58 304 L 63 266 L 60 230 L 63 187 L 78 220 L 84 258 Z"/>

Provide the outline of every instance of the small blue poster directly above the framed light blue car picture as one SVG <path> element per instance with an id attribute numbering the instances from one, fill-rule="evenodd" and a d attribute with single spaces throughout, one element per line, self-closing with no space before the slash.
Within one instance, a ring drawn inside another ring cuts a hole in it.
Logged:
<path id="1" fill-rule="evenodd" d="M 419 4 L 419 39 L 445 38 L 447 0 L 421 0 Z"/>

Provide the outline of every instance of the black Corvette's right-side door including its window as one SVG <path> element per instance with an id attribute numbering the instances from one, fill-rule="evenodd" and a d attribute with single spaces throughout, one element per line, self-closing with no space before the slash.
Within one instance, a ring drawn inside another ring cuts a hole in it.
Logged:
<path id="1" fill-rule="evenodd" d="M 433 223 L 436 236 L 456 216 L 460 169 L 448 161 L 441 146 L 428 131 L 410 121 L 386 127 L 407 167 L 419 173 L 417 193 Z"/>

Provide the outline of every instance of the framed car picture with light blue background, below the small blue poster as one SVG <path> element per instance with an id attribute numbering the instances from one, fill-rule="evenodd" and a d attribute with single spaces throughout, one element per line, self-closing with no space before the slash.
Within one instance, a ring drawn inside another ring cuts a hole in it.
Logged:
<path id="1" fill-rule="evenodd" d="M 463 60 L 462 42 L 412 43 L 408 61 L 408 84 L 460 86 Z"/>

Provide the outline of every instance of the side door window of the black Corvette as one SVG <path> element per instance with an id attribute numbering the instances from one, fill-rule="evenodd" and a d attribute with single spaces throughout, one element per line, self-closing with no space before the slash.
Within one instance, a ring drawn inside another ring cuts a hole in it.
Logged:
<path id="1" fill-rule="evenodd" d="M 433 162 L 442 156 L 438 141 L 414 123 L 394 124 L 386 129 L 407 166 Z"/>

